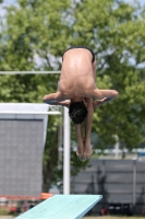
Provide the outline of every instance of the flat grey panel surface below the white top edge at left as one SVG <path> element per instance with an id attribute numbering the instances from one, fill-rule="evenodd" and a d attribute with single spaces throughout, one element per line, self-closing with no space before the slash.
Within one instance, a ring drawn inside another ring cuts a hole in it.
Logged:
<path id="1" fill-rule="evenodd" d="M 0 196 L 40 196 L 43 119 L 0 119 Z"/>

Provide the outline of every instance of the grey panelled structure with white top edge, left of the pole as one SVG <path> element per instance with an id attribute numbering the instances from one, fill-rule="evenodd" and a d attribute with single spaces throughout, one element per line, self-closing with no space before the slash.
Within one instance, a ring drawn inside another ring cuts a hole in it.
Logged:
<path id="1" fill-rule="evenodd" d="M 0 103 L 0 196 L 40 196 L 48 111 L 46 104 Z"/>

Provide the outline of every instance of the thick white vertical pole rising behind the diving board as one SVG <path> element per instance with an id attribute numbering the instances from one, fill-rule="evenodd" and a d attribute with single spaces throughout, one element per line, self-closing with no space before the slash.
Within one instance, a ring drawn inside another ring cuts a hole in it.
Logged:
<path id="1" fill-rule="evenodd" d="M 63 123 L 63 194 L 70 194 L 70 117 L 69 110 L 64 107 Z"/>

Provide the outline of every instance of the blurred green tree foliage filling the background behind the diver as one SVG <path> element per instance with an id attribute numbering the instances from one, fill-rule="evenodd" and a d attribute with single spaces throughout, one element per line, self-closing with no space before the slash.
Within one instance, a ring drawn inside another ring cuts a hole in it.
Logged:
<path id="1" fill-rule="evenodd" d="M 68 47 L 88 46 L 97 60 L 97 87 L 119 91 L 116 101 L 94 114 L 93 132 L 98 136 L 94 148 L 113 145 L 114 135 L 130 150 L 144 142 L 145 7 L 121 0 L 19 0 L 7 11 L 0 33 L 1 70 L 60 70 Z M 41 102 L 46 93 L 56 91 L 58 80 L 57 74 L 1 76 L 1 102 Z M 49 136 L 58 131 L 59 123 L 53 126 L 53 120 Z M 45 152 L 45 176 L 52 171 L 50 181 L 57 174 L 50 155 L 56 139 L 52 149 L 47 140 Z M 76 164 L 74 153 L 72 163 Z"/>

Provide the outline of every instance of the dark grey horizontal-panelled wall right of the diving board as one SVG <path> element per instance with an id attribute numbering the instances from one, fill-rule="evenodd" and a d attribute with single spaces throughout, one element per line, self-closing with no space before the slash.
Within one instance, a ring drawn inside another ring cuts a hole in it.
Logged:
<path id="1" fill-rule="evenodd" d="M 145 162 L 96 159 L 90 164 L 90 168 L 72 177 L 72 193 L 102 195 L 102 200 L 94 208 L 96 211 L 105 206 L 123 210 L 130 206 L 133 212 L 142 211 L 145 203 Z"/>

